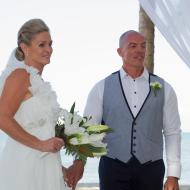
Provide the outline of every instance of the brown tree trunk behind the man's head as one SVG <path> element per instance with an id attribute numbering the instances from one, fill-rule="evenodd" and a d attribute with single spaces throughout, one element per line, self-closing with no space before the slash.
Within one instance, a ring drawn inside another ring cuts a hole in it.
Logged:
<path id="1" fill-rule="evenodd" d="M 145 66 L 153 73 L 154 71 L 154 24 L 145 13 L 142 7 L 139 11 L 139 32 L 142 33 L 147 40 L 147 50 L 145 56 Z"/>

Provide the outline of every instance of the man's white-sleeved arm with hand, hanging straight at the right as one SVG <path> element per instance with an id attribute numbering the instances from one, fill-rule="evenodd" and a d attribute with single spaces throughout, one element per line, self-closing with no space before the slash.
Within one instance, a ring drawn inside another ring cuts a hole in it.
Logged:
<path id="1" fill-rule="evenodd" d="M 177 97 L 172 87 L 165 83 L 164 137 L 167 161 L 165 190 L 178 190 L 181 175 L 181 129 Z"/>

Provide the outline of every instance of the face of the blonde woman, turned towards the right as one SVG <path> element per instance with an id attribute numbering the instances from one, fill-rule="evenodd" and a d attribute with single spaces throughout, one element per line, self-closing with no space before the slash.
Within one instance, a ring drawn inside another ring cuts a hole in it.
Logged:
<path id="1" fill-rule="evenodd" d="M 50 62 L 52 52 L 52 40 L 49 32 L 41 32 L 36 34 L 31 40 L 31 44 L 26 47 L 25 61 L 30 65 L 43 67 Z"/>

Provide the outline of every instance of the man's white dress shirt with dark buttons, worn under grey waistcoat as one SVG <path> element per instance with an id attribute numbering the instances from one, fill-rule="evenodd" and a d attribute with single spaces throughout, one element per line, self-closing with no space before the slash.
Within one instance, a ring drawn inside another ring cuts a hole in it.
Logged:
<path id="1" fill-rule="evenodd" d="M 128 104 L 134 116 L 137 115 L 149 92 L 149 73 L 146 69 L 136 79 L 120 69 L 121 82 Z M 181 175 L 181 130 L 177 97 L 173 88 L 164 82 L 165 97 L 163 108 L 163 134 L 165 137 L 167 176 L 180 178 Z M 99 81 L 90 91 L 84 110 L 85 116 L 92 116 L 93 124 L 100 124 L 103 113 L 104 80 Z"/>

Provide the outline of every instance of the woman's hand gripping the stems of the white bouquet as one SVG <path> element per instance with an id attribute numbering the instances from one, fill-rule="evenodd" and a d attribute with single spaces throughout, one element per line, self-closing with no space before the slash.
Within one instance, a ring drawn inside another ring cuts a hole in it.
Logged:
<path id="1" fill-rule="evenodd" d="M 58 152 L 64 146 L 64 141 L 61 138 L 53 137 L 47 140 L 39 141 L 38 150 L 42 152 Z"/>

